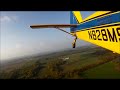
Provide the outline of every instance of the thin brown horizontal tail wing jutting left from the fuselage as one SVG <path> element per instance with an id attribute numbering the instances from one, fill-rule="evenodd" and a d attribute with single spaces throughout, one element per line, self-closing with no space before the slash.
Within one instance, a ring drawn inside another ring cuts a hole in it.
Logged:
<path id="1" fill-rule="evenodd" d="M 39 24 L 31 25 L 31 28 L 70 28 L 77 27 L 77 24 Z"/>

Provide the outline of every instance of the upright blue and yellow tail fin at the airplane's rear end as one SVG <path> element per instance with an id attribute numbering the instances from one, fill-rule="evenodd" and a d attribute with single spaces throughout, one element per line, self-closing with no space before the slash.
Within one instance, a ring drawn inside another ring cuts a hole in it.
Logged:
<path id="1" fill-rule="evenodd" d="M 70 11 L 70 24 L 80 24 L 82 22 L 82 15 L 80 11 Z M 74 32 L 75 28 L 71 27 L 70 32 Z"/>

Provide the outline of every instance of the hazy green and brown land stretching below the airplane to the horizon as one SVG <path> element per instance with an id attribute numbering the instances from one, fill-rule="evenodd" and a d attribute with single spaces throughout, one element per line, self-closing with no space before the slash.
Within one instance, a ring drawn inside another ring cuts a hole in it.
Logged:
<path id="1" fill-rule="evenodd" d="M 101 47 L 80 47 L 11 61 L 2 65 L 0 78 L 120 79 L 120 55 Z"/>

